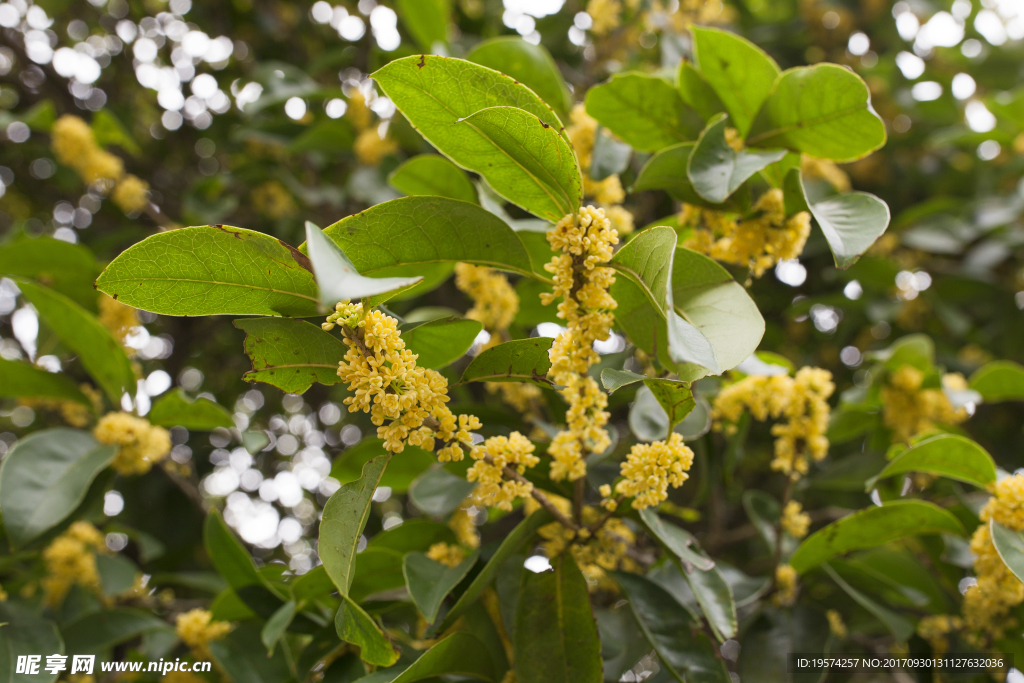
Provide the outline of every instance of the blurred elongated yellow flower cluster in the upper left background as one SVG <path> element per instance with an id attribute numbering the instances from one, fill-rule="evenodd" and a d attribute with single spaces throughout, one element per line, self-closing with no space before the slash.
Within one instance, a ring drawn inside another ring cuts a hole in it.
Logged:
<path id="1" fill-rule="evenodd" d="M 66 114 L 53 122 L 50 150 L 87 184 L 113 188 L 111 199 L 125 213 L 138 213 L 148 205 L 150 185 L 126 174 L 124 162 L 99 146 L 89 124 L 77 116 Z"/>

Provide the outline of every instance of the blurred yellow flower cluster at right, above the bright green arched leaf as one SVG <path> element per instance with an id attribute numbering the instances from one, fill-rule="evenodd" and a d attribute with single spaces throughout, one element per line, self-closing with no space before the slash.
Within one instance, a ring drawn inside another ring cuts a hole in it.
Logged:
<path id="1" fill-rule="evenodd" d="M 937 424 L 958 425 L 970 417 L 967 409 L 953 408 L 941 388 L 922 388 L 924 382 L 922 371 L 900 366 L 882 387 L 882 420 L 897 441 L 908 442 Z M 967 388 L 967 380 L 957 373 L 943 376 L 942 383 L 951 389 Z"/>

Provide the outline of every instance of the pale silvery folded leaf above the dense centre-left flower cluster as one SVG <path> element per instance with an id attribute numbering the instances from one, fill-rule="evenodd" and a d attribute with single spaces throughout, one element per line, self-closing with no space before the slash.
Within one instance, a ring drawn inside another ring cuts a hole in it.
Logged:
<path id="1" fill-rule="evenodd" d="M 423 281 L 415 278 L 367 278 L 360 275 L 345 253 L 318 227 L 306 221 L 306 253 L 313 267 L 313 278 L 319 288 L 319 301 L 334 307 L 339 301 L 350 301 L 406 290 Z"/>

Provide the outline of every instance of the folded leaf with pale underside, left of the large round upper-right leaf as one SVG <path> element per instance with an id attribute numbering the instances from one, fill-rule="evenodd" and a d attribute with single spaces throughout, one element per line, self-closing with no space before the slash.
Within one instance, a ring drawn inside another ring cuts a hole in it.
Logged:
<path id="1" fill-rule="evenodd" d="M 729 118 L 720 115 L 711 121 L 690 154 L 686 177 L 697 195 L 721 204 L 754 174 L 786 155 L 785 150 L 736 152 L 725 139 Z"/>

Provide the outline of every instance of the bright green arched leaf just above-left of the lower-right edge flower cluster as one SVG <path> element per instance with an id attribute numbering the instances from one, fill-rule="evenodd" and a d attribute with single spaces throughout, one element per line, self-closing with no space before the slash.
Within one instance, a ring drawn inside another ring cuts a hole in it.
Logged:
<path id="1" fill-rule="evenodd" d="M 956 434 L 939 434 L 894 458 L 878 476 L 867 480 L 865 490 L 873 488 L 879 479 L 905 472 L 938 474 L 979 488 L 995 483 L 995 462 L 979 443 Z"/>

